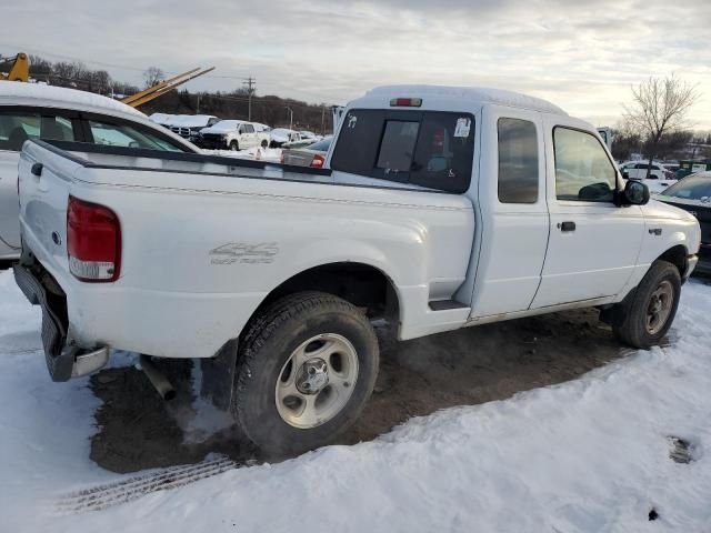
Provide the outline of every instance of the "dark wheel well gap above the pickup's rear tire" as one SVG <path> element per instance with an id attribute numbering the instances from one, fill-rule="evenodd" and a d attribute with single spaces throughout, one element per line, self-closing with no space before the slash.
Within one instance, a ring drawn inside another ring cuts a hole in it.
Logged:
<path id="1" fill-rule="evenodd" d="M 398 322 L 400 309 L 392 281 L 380 270 L 363 263 L 331 263 L 314 266 L 288 279 L 260 305 L 260 310 L 288 294 L 321 291 L 363 308 L 370 319 Z M 258 310 L 259 311 L 259 310 Z"/>

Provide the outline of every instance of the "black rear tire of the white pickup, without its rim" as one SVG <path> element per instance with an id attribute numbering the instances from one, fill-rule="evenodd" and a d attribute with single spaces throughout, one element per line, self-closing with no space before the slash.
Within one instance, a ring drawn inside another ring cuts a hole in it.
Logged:
<path id="1" fill-rule="evenodd" d="M 356 306 L 331 294 L 300 292 L 274 302 L 246 331 L 231 408 L 244 433 L 262 451 L 286 456 L 322 446 L 358 419 L 375 384 L 379 348 L 373 328 Z M 333 418 L 314 428 L 294 428 L 277 409 L 277 382 L 294 350 L 324 333 L 350 341 L 358 358 L 358 378 Z"/>

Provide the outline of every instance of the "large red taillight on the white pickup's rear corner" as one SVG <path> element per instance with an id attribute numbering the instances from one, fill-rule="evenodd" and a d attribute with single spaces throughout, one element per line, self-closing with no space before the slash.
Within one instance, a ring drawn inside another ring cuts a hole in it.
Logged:
<path id="1" fill-rule="evenodd" d="M 119 218 L 109 208 L 69 197 L 67 253 L 69 270 L 79 280 L 118 280 L 121 269 Z"/>

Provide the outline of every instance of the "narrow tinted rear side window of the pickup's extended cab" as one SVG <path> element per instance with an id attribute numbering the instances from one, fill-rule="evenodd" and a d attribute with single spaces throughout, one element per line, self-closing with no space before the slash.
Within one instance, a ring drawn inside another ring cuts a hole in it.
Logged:
<path id="1" fill-rule="evenodd" d="M 528 120 L 499 119 L 499 201 L 535 203 L 539 167 L 535 124 Z"/>

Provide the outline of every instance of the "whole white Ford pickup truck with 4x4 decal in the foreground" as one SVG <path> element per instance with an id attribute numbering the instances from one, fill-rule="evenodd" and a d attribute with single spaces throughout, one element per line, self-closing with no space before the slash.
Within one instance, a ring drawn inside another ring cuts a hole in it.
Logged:
<path id="1" fill-rule="evenodd" d="M 110 348 L 202 358 L 249 438 L 293 453 L 360 413 L 374 320 L 405 340 L 597 306 L 648 348 L 697 263 L 697 220 L 623 185 L 594 128 L 539 99 L 374 89 L 327 163 L 27 142 L 16 279 L 53 379 Z"/>

